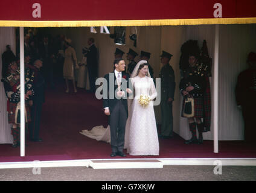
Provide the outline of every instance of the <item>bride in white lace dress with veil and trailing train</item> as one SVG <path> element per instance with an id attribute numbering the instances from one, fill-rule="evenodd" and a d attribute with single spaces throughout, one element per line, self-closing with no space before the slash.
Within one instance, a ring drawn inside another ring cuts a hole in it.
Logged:
<path id="1" fill-rule="evenodd" d="M 153 79 L 150 77 L 147 61 L 141 60 L 133 70 L 131 82 L 135 97 L 128 99 L 129 116 L 126 122 L 124 148 L 133 156 L 158 156 L 159 142 L 156 128 L 153 100 L 157 93 Z M 146 107 L 139 104 L 141 95 L 149 96 Z M 110 127 L 96 126 L 92 130 L 80 131 L 81 134 L 97 141 L 110 143 Z"/>

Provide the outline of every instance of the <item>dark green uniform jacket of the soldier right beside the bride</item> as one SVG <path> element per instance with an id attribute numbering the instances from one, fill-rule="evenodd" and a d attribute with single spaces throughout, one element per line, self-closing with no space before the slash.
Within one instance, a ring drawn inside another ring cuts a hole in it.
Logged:
<path id="1" fill-rule="evenodd" d="M 161 101 L 166 101 L 168 98 L 174 100 L 175 77 L 173 68 L 167 64 L 162 67 L 160 72 L 161 78 Z"/>

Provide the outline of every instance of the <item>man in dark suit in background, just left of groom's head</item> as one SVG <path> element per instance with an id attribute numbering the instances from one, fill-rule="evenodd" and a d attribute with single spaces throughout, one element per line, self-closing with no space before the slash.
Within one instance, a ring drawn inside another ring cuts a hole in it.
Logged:
<path id="1" fill-rule="evenodd" d="M 90 37 L 88 39 L 89 49 L 86 54 L 87 56 L 87 67 L 89 74 L 89 82 L 91 92 L 95 92 L 95 80 L 98 74 L 98 60 L 97 60 L 97 48 L 94 45 L 94 38 Z"/>

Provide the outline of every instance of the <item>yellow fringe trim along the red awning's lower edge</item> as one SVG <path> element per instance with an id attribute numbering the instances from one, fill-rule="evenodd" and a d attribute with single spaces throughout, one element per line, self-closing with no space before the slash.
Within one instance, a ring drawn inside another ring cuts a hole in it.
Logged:
<path id="1" fill-rule="evenodd" d="M 100 26 L 159 26 L 256 24 L 256 17 L 211 19 L 159 19 L 116 21 L 0 21 L 0 27 L 100 27 Z"/>

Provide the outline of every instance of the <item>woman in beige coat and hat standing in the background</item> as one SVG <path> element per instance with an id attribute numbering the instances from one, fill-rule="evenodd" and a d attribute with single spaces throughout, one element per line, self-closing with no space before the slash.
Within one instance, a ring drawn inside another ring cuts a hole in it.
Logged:
<path id="1" fill-rule="evenodd" d="M 77 65 L 77 55 L 75 54 L 75 49 L 71 47 L 71 39 L 66 39 L 65 41 L 65 60 L 63 65 L 63 77 L 66 81 L 66 93 L 69 92 L 69 83 L 68 80 L 72 80 L 74 86 L 74 92 L 77 92 L 75 87 L 75 77 L 74 77 L 74 65 L 78 69 Z"/>

